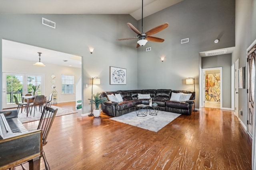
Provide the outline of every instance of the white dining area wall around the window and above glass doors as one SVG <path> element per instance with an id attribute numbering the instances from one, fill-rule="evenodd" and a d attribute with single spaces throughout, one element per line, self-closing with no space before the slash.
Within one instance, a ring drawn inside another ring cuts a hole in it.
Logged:
<path id="1" fill-rule="evenodd" d="M 34 74 L 44 74 L 44 80 L 45 80 L 45 95 L 49 96 L 50 93 L 52 93 L 52 83 L 51 83 L 51 75 L 54 74 L 56 76 L 55 80 L 55 86 L 56 90 L 58 92 L 58 102 L 71 102 L 76 100 L 75 92 L 74 94 L 62 94 L 61 88 L 61 75 L 72 75 L 74 76 L 74 82 L 78 81 L 79 77 L 82 74 L 81 68 L 74 68 L 74 67 L 66 67 L 66 66 L 59 66 L 55 64 L 46 64 L 45 67 L 40 66 L 34 66 L 32 62 L 29 61 L 20 61 L 20 60 L 14 60 L 14 59 L 2 59 L 2 68 L 3 72 L 17 72 L 17 73 L 34 73 Z"/>

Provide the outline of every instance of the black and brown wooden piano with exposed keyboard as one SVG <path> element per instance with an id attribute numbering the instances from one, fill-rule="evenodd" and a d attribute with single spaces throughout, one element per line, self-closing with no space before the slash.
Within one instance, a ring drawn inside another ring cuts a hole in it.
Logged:
<path id="1" fill-rule="evenodd" d="M 16 110 L 0 111 L 0 169 L 29 162 L 29 169 L 40 170 L 42 130 L 27 131 Z"/>

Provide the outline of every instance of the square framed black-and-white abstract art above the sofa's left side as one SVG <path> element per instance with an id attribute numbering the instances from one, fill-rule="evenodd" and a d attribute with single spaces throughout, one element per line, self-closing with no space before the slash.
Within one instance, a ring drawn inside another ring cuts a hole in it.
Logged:
<path id="1" fill-rule="evenodd" d="M 126 69 L 110 66 L 110 84 L 126 84 Z"/>

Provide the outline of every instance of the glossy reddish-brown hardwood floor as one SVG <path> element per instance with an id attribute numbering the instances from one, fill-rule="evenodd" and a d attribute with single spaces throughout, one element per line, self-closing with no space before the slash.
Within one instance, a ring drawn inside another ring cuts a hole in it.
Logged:
<path id="1" fill-rule="evenodd" d="M 233 111 L 202 108 L 158 132 L 109 118 L 105 113 L 98 118 L 80 113 L 56 117 L 44 146 L 51 170 L 252 169 L 252 139 Z M 32 130 L 37 123 L 24 126 Z"/>

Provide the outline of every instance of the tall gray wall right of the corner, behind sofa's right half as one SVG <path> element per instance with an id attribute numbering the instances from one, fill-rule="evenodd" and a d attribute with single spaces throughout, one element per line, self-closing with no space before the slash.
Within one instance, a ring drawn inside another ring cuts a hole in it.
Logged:
<path id="1" fill-rule="evenodd" d="M 153 35 L 165 39 L 163 43 L 148 42 L 138 49 L 138 88 L 194 90 L 185 79 L 195 77 L 198 108 L 199 52 L 234 47 L 234 21 L 234 0 L 184 0 L 144 18 L 145 32 L 165 22 L 169 27 Z M 184 38 L 189 43 L 180 44 Z M 146 52 L 146 47 L 152 51 Z M 162 55 L 166 56 L 164 62 L 160 61 Z"/>

